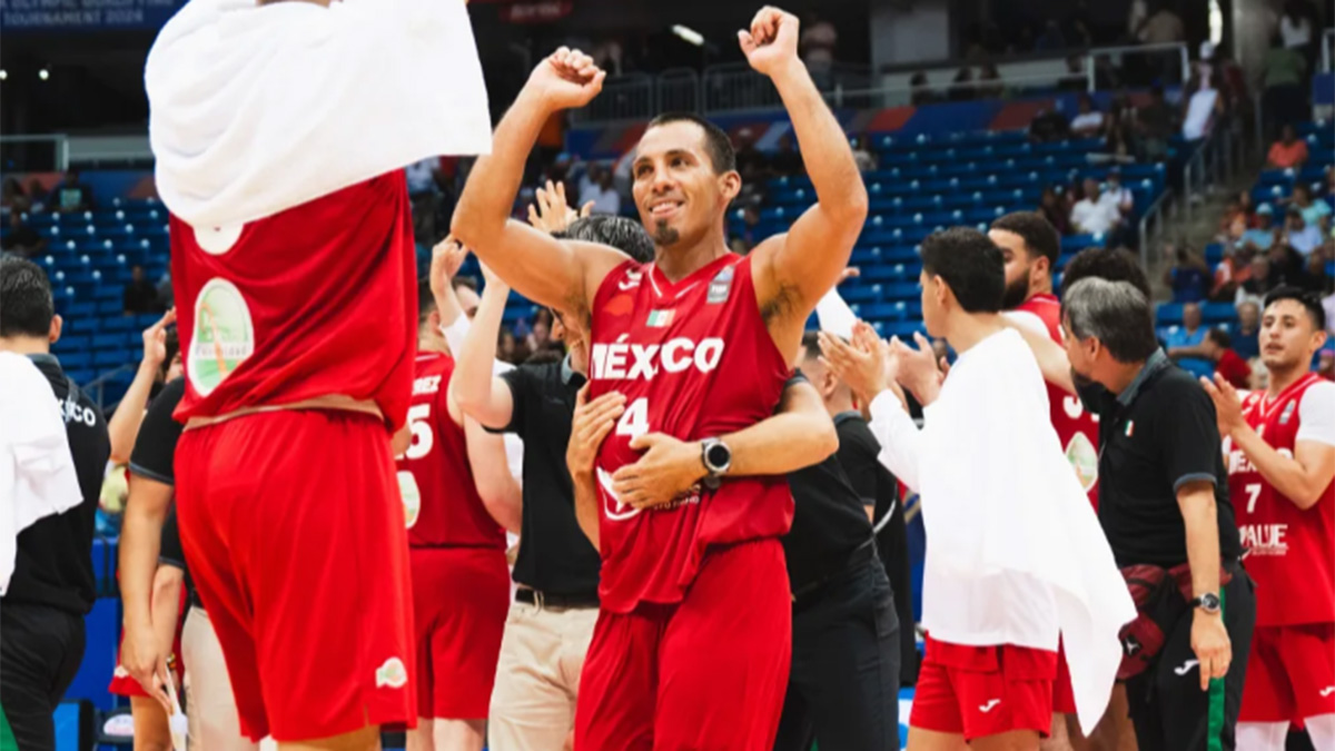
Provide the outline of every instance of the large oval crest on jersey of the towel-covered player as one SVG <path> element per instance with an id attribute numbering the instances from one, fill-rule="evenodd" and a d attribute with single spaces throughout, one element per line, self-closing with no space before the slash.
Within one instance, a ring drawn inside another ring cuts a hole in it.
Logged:
<path id="1" fill-rule="evenodd" d="M 195 298 L 195 330 L 186 371 L 200 396 L 208 396 L 255 351 L 255 326 L 236 285 L 215 277 Z"/>

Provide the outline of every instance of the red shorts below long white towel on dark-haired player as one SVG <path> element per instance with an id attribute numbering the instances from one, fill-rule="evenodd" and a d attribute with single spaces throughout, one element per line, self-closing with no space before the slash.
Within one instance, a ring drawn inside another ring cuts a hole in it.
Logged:
<path id="1" fill-rule="evenodd" d="M 965 647 L 926 637 L 909 726 L 963 734 L 965 742 L 1052 730 L 1057 653 L 1011 644 Z"/>

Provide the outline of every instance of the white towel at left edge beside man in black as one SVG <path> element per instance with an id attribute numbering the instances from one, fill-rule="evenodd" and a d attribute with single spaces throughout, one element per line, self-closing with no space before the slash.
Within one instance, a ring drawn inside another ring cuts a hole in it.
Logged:
<path id="1" fill-rule="evenodd" d="M 31 359 L 0 351 L 0 595 L 19 533 L 83 502 L 60 401 Z"/>

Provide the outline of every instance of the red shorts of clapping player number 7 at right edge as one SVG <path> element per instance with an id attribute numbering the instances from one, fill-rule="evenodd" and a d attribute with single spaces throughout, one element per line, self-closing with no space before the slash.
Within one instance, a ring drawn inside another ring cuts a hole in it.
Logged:
<path id="1" fill-rule="evenodd" d="M 1335 624 L 1258 625 L 1238 722 L 1280 723 L 1335 712 Z"/>

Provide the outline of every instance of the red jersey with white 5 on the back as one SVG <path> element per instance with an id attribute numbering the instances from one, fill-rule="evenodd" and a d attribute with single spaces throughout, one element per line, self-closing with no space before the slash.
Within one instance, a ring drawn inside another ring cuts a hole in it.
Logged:
<path id="1" fill-rule="evenodd" d="M 398 457 L 409 545 L 505 551 L 505 529 L 478 496 L 463 426 L 450 418 L 446 405 L 453 374 L 450 355 L 423 353 L 417 358 L 409 406 L 413 442 Z"/>

